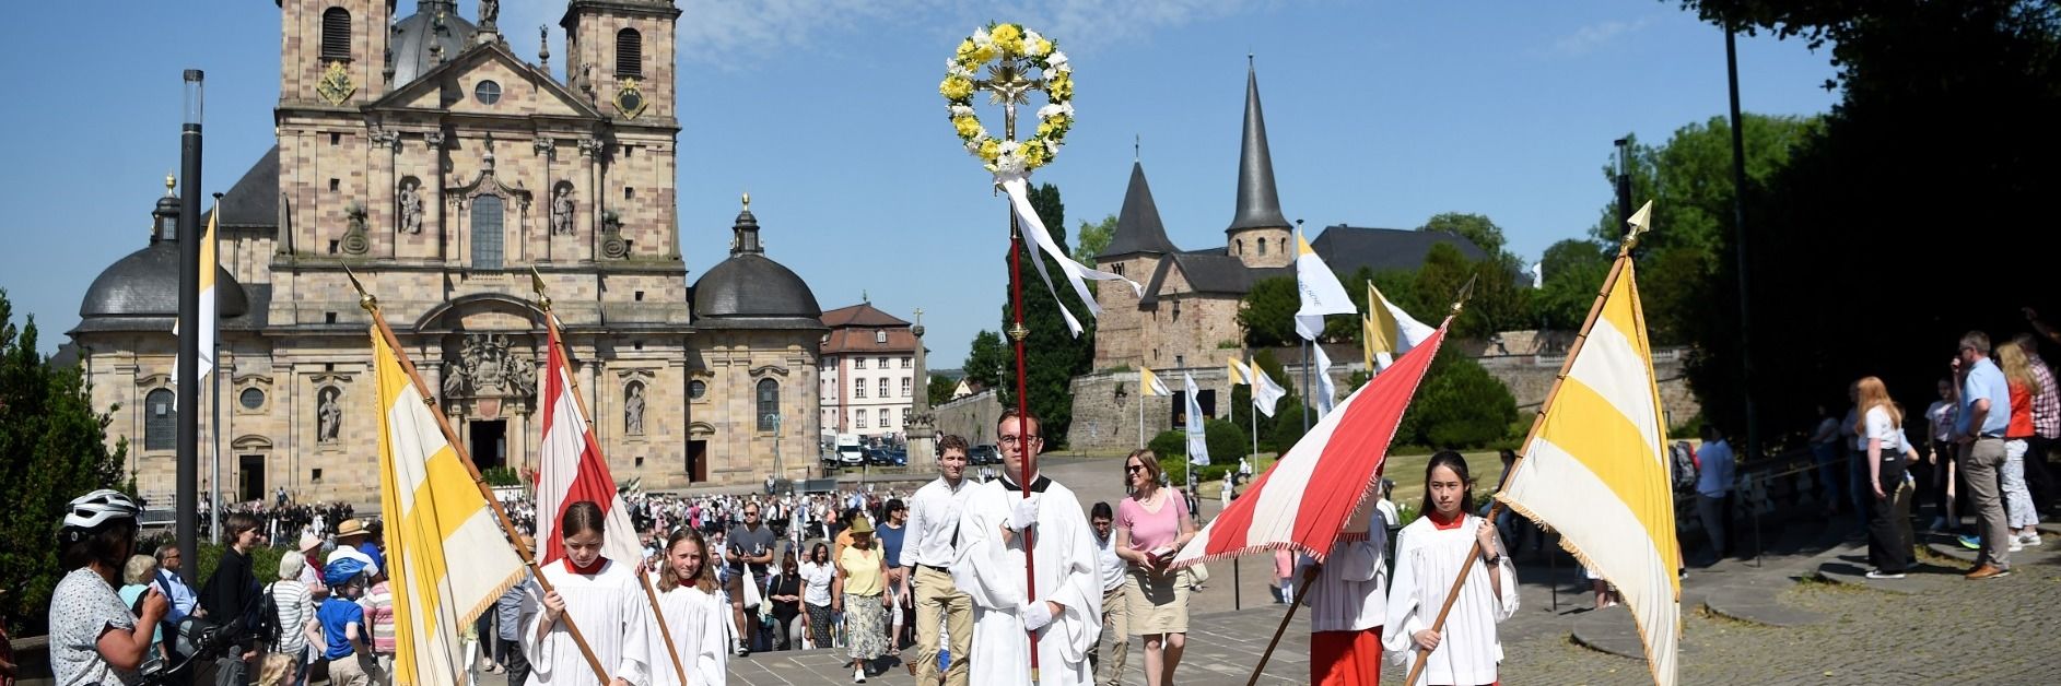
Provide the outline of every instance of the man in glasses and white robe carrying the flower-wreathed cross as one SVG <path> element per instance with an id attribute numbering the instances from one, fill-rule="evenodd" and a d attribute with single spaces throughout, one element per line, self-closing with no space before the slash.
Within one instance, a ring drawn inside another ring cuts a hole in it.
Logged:
<path id="1" fill-rule="evenodd" d="M 952 583 L 973 597 L 969 682 L 981 686 L 1092 684 L 1088 651 L 1103 634 L 1103 579 L 1094 531 L 1074 490 L 1037 474 L 1043 447 L 1037 418 L 1002 414 L 1006 472 L 969 486 L 958 519 Z M 1030 499 L 1016 480 L 1030 466 Z M 1024 589 L 1024 538 L 1030 538 L 1035 593 Z M 1039 676 L 1030 680 L 1030 634 Z M 952 655 L 958 659 L 958 655 Z"/>

